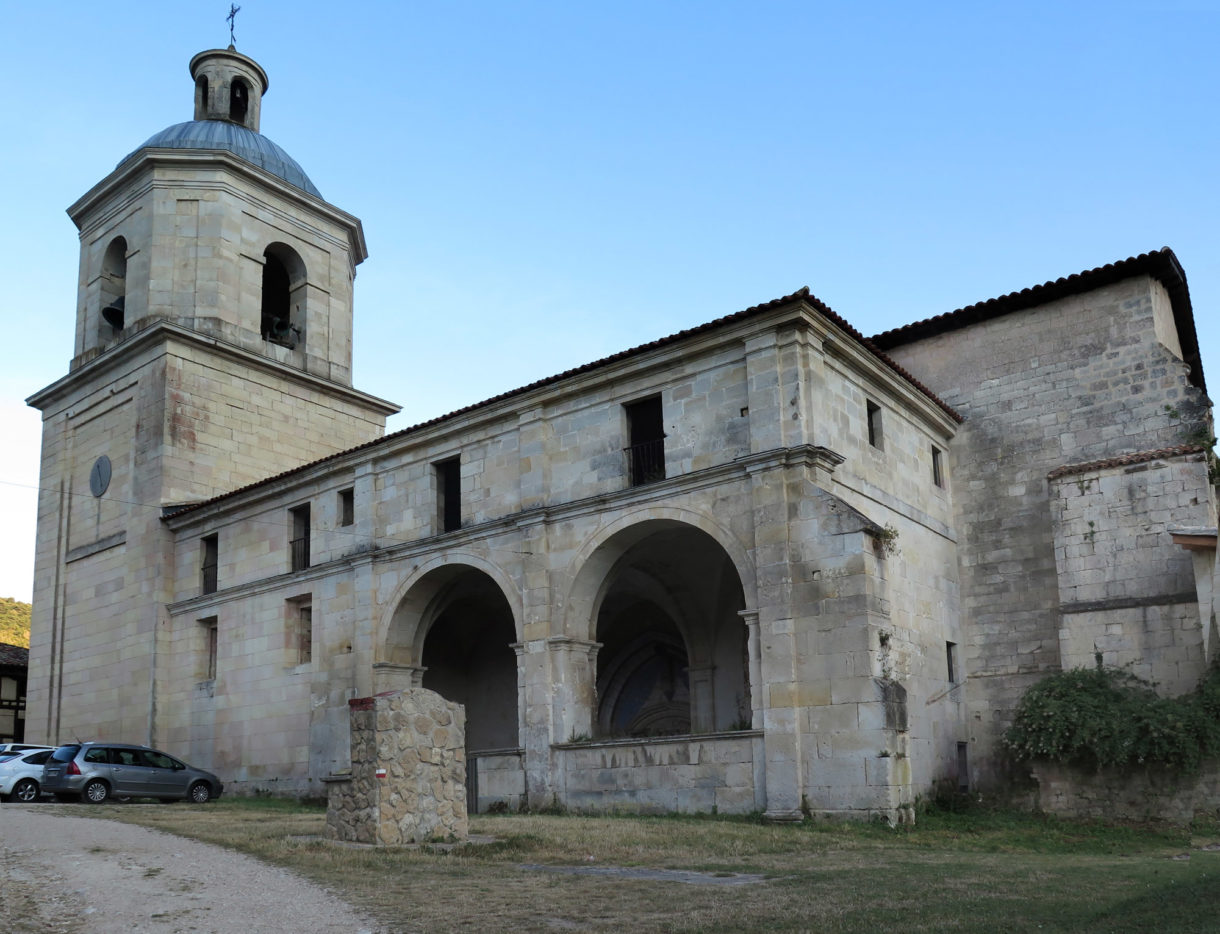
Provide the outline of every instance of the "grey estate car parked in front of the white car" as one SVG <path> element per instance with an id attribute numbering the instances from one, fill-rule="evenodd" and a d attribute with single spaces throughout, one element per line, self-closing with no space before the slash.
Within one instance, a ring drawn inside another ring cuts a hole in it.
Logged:
<path id="1" fill-rule="evenodd" d="M 101 804 L 107 797 L 184 799 L 205 804 L 224 785 L 211 772 L 127 743 L 70 743 L 43 766 L 43 790 L 60 799 Z"/>

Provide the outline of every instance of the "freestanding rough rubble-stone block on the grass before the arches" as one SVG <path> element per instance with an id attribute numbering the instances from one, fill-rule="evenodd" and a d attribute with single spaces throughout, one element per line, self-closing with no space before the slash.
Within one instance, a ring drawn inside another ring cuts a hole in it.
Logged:
<path id="1" fill-rule="evenodd" d="M 351 775 L 328 782 L 327 835 L 383 845 L 465 839 L 462 706 L 410 688 L 349 707 Z"/>

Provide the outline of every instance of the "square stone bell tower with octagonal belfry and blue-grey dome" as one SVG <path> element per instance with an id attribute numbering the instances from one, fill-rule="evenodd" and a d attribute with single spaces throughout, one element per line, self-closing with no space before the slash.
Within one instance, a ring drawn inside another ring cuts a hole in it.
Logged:
<path id="1" fill-rule="evenodd" d="M 154 739 L 163 507 L 379 438 L 398 411 L 351 385 L 360 221 L 260 133 L 257 62 L 214 49 L 190 78 L 194 119 L 68 209 L 73 355 L 27 400 L 43 412 L 27 735 L 45 741 Z"/>

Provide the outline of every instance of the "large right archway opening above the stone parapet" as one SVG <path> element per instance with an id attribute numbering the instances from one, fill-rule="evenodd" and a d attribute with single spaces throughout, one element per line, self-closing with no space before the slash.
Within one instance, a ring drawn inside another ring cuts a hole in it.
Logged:
<path id="1" fill-rule="evenodd" d="M 611 567 L 597 610 L 598 734 L 748 729 L 744 607 L 732 560 L 706 533 L 658 523 L 631 544 Z"/>

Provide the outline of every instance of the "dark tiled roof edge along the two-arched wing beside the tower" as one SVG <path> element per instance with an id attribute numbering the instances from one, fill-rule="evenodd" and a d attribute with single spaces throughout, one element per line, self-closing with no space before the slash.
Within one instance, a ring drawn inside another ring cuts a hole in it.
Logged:
<path id="1" fill-rule="evenodd" d="M 399 430 L 396 430 L 396 432 L 394 432 L 392 434 L 383 435 L 382 438 L 375 438 L 371 441 L 365 441 L 364 444 L 359 444 L 355 447 L 348 447 L 345 450 L 337 451 L 336 454 L 327 455 L 326 457 L 318 457 L 316 461 L 310 461 L 309 463 L 303 463 L 299 467 L 293 467 L 292 469 L 288 469 L 288 471 L 282 471 L 281 473 L 273 474 L 271 477 L 266 477 L 266 478 L 264 478 L 261 480 L 255 480 L 254 483 L 249 483 L 245 487 L 239 487 L 239 488 L 237 488 L 234 490 L 229 490 L 228 493 L 222 493 L 222 494 L 218 494 L 216 496 L 211 496 L 211 497 L 209 497 L 206 500 L 201 500 L 199 502 L 185 504 L 185 505 L 176 506 L 176 507 L 172 507 L 172 506 L 171 507 L 166 507 L 162 518 L 171 518 L 171 517 L 174 517 L 174 516 L 183 516 L 183 515 L 185 515 L 188 512 L 193 512 L 195 510 L 203 508 L 204 506 L 209 506 L 209 505 L 211 505 L 214 502 L 217 502 L 220 500 L 224 500 L 224 499 L 228 499 L 229 496 L 235 496 L 235 495 L 238 495 L 240 493 L 245 493 L 248 490 L 257 489 L 259 487 L 264 487 L 266 484 L 274 483 L 276 480 L 281 480 L 281 479 L 283 479 L 285 477 L 290 477 L 294 473 L 299 473 L 301 471 L 310 469 L 311 467 L 317 467 L 318 465 L 327 463 L 328 461 L 333 461 L 333 460 L 337 460 L 339 457 L 346 457 L 350 454 L 355 454 L 356 451 L 362 451 L 362 450 L 366 450 L 368 447 L 373 447 L 376 445 L 387 444 L 389 441 L 393 441 L 394 439 L 404 438 L 404 437 L 406 437 L 409 434 L 415 434 L 416 432 L 421 432 L 425 428 L 431 428 L 431 427 L 433 427 L 436 424 L 439 424 L 442 422 L 447 422 L 447 421 L 449 421 L 451 418 L 456 418 L 458 416 L 466 415 L 467 412 L 472 412 L 472 411 L 476 411 L 478 408 L 484 408 L 487 406 L 494 405 L 495 402 L 501 402 L 501 401 L 504 401 L 506 399 L 511 399 L 512 396 L 523 395 L 525 393 L 532 391 L 534 389 L 540 389 L 543 387 L 551 385 L 554 383 L 560 383 L 560 382 L 562 382 L 565 379 L 570 379 L 571 377 L 580 376 L 581 373 L 588 373 L 588 372 L 590 372 L 593 369 L 598 369 L 600 367 L 609 366 L 610 363 L 615 363 L 615 362 L 617 362 L 620 360 L 626 360 L 627 357 L 637 356 L 637 355 L 643 354 L 643 352 L 649 351 L 649 350 L 655 350 L 656 348 L 667 346 L 670 344 L 676 344 L 676 343 L 678 343 L 681 340 L 684 340 L 686 338 L 693 337 L 695 334 L 703 334 L 703 333 L 706 333 L 709 330 L 714 330 L 716 328 L 723 327 L 726 324 L 730 324 L 730 323 L 733 323 L 733 322 L 737 322 L 737 321 L 743 321 L 745 318 L 753 317 L 755 315 L 760 315 L 760 313 L 762 313 L 765 311 L 780 307 L 781 305 L 786 305 L 786 304 L 789 304 L 789 302 L 793 302 L 793 301 L 805 301 L 809 305 L 814 306 L 819 312 L 821 312 L 822 315 L 825 315 L 827 318 L 830 318 L 831 321 L 833 321 L 838 327 L 841 327 L 843 330 L 845 330 L 854 340 L 856 340 L 861 346 L 864 346 L 870 354 L 872 354 L 874 356 L 876 356 L 878 360 L 881 360 L 881 362 L 883 362 L 886 366 L 888 366 L 891 369 L 893 369 L 898 376 L 900 376 L 903 379 L 905 379 L 908 383 L 910 383 L 915 389 L 917 389 L 920 393 L 922 393 L 930 400 L 932 400 L 932 402 L 935 402 L 937 406 L 939 406 L 939 408 L 942 408 L 950 418 L 953 418 L 959 424 L 961 423 L 963 417 L 958 412 L 955 412 L 948 404 L 946 404 L 939 397 L 937 397 L 937 395 L 935 393 L 932 393 L 931 389 L 928 389 L 922 383 L 920 383 L 917 379 L 915 379 L 915 377 L 913 377 L 909 372 L 906 372 L 906 369 L 904 369 L 895 361 L 893 361 L 887 354 L 884 354 L 882 350 L 880 350 L 877 346 L 875 346 L 869 338 L 864 337 L 864 334 L 861 334 L 854 327 L 852 327 L 850 324 L 848 324 L 847 321 L 842 316 L 839 316 L 828 305 L 826 305 L 821 299 L 819 299 L 816 295 L 810 294 L 808 285 L 802 285 L 795 291 L 789 293 L 788 295 L 782 295 L 778 299 L 771 299 L 770 301 L 764 301 L 764 302 L 760 302 L 759 305 L 752 305 L 748 308 L 743 308 L 742 311 L 736 311 L 732 315 L 725 315 L 723 317 L 720 317 L 720 318 L 714 318 L 712 321 L 709 321 L 709 322 L 706 322 L 704 324 L 698 324 L 698 326 L 695 326 L 693 328 L 686 328 L 683 330 L 678 330 L 678 332 L 676 332 L 673 334 L 669 334 L 666 337 L 658 338 L 656 340 L 651 340 L 651 341 L 649 341 L 647 344 L 639 344 L 637 346 L 628 348 L 626 350 L 620 350 L 619 352 L 611 354 L 610 356 L 601 357 L 599 360 L 594 360 L 594 361 L 592 361 L 589 363 L 583 363 L 583 365 L 581 365 L 578 367 L 573 367 L 571 369 L 565 369 L 561 373 L 556 373 L 556 374 L 550 376 L 550 377 L 544 377 L 543 379 L 537 379 L 533 383 L 527 383 L 523 387 L 517 387 L 516 389 L 510 389 L 510 390 L 508 390 L 505 393 L 500 393 L 499 395 L 490 396 L 489 399 L 483 399 L 483 400 L 481 400 L 478 402 L 472 402 L 472 404 L 470 404 L 467 406 L 462 406 L 461 408 L 455 408 L 451 412 L 445 412 L 444 415 L 439 415 L 436 418 L 429 418 L 429 419 L 427 419 L 425 422 L 418 422 L 416 424 L 407 426 L 406 428 L 400 428 Z"/>

